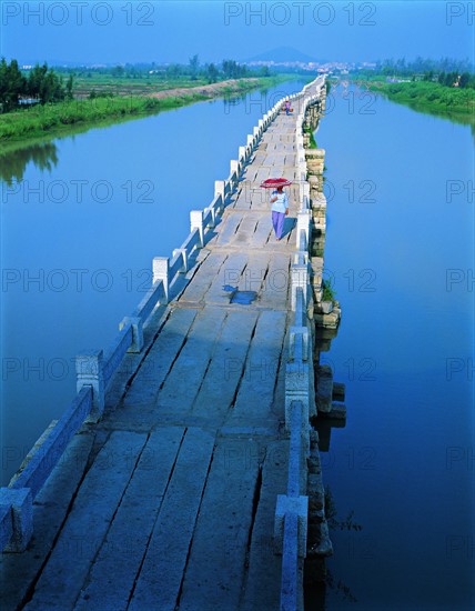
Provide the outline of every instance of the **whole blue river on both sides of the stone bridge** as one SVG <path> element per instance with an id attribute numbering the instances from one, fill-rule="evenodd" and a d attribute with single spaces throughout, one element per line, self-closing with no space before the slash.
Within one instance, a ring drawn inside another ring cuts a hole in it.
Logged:
<path id="1" fill-rule="evenodd" d="M 2 159 L 2 480 L 105 348 L 154 256 L 265 110 L 303 83 L 201 102 Z M 466 126 L 337 88 L 326 149 L 325 274 L 343 319 L 330 352 L 347 420 L 324 482 L 337 520 L 309 609 L 465 610 L 473 589 L 473 140 Z M 329 435 L 329 430 L 324 431 Z M 322 433 L 323 438 L 323 433 Z"/>

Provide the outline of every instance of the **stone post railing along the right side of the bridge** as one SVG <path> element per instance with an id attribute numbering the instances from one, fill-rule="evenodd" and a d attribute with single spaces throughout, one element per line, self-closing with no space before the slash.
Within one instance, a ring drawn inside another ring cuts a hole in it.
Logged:
<path id="1" fill-rule="evenodd" d="M 281 611 L 302 609 L 303 562 L 306 555 L 309 497 L 301 494 L 310 452 L 310 411 L 314 409 L 312 333 L 309 325 L 311 298 L 309 248 L 311 234 L 310 184 L 302 126 L 306 109 L 320 99 L 324 78 L 319 77 L 304 88 L 296 119 L 295 141 L 300 172 L 301 207 L 297 216 L 296 250 L 291 267 L 291 308 L 293 325 L 289 329 L 289 360 L 285 369 L 285 429 L 290 433 L 287 493 L 277 495 L 274 534 L 282 552 Z M 305 94 L 312 87 L 316 93 Z"/>

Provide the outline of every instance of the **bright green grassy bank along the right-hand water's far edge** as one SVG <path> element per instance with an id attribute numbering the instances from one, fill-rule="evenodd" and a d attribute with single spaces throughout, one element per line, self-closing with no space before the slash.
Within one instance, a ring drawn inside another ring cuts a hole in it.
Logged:
<path id="1" fill-rule="evenodd" d="M 475 123 L 474 89 L 457 89 L 427 81 L 388 83 L 378 79 L 355 79 L 354 82 L 414 110 L 462 123 Z"/>

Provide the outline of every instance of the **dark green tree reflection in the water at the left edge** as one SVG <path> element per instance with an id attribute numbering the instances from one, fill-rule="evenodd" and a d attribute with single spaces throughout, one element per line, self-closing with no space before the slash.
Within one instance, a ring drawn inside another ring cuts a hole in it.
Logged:
<path id="1" fill-rule="evenodd" d="M 32 162 L 41 172 L 51 172 L 58 166 L 58 147 L 54 142 L 36 143 L 0 153 L 0 180 L 9 187 L 23 180 L 27 166 Z"/>

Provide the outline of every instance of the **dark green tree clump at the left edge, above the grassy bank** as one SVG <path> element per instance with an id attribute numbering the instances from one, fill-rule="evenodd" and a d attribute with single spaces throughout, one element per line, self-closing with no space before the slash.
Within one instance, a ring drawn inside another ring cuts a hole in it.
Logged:
<path id="1" fill-rule="evenodd" d="M 34 100 L 40 104 L 60 102 L 72 99 L 73 76 L 70 74 L 64 83 L 63 77 L 52 68 L 37 63 L 28 73 L 23 74 L 18 61 L 10 63 L 4 58 L 0 61 L 0 110 L 9 112 L 19 108 L 24 100 Z"/>

